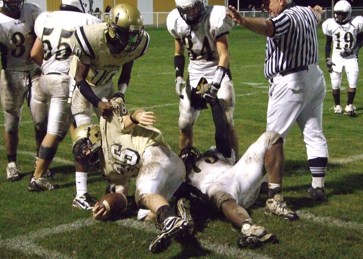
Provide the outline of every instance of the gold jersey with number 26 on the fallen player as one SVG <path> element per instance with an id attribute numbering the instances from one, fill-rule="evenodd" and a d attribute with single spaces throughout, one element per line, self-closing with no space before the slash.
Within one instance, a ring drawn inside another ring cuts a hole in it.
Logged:
<path id="1" fill-rule="evenodd" d="M 125 131 L 125 121 L 130 116 L 121 97 L 111 100 L 114 115 L 107 120 L 101 117 L 102 136 L 101 171 L 111 183 L 126 185 L 129 178 L 137 175 L 142 166 L 142 156 L 146 148 L 164 146 L 170 150 L 159 129 L 136 125 Z"/>

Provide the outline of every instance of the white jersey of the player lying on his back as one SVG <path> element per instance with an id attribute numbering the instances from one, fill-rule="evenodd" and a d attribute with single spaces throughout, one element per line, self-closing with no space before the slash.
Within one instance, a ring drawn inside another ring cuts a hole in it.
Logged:
<path id="1" fill-rule="evenodd" d="M 235 157 L 232 150 L 232 158 L 226 159 L 216 147 L 211 147 L 195 163 L 187 177 L 187 183 L 196 187 L 203 194 L 218 176 L 234 165 Z"/>

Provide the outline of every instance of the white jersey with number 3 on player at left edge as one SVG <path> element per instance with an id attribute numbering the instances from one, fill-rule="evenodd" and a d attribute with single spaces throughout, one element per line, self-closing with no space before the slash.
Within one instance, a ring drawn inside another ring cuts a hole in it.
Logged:
<path id="1" fill-rule="evenodd" d="M 30 59 L 34 43 L 34 21 L 41 13 L 35 4 L 24 4 L 19 19 L 0 13 L 0 52 L 3 69 L 27 71 L 37 67 Z"/>

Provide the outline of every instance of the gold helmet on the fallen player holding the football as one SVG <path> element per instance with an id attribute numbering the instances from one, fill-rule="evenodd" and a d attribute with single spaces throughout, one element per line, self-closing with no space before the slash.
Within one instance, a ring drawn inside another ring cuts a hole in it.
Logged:
<path id="1" fill-rule="evenodd" d="M 99 162 L 98 149 L 101 147 L 99 125 L 85 123 L 79 125 L 72 135 L 74 160 L 86 167 Z"/>

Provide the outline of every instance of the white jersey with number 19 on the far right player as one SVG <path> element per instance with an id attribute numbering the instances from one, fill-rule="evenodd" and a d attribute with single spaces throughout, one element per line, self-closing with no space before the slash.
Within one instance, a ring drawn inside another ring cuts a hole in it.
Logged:
<path id="1" fill-rule="evenodd" d="M 335 22 L 334 18 L 330 18 L 323 22 L 322 27 L 325 35 L 333 37 L 332 60 L 352 59 L 357 57 L 353 54 L 343 58 L 340 56 L 340 52 L 344 51 L 343 48 L 355 47 L 357 34 L 363 32 L 362 16 L 357 16 L 346 24 L 338 24 Z"/>

